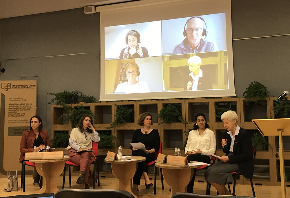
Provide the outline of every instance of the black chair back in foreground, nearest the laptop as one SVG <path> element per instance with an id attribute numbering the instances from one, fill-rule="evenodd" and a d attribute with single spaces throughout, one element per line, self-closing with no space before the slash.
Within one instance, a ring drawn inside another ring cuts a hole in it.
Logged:
<path id="1" fill-rule="evenodd" d="M 55 198 L 134 198 L 125 190 L 60 189 Z"/>

